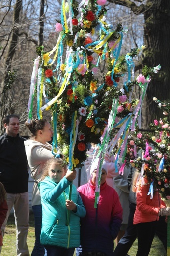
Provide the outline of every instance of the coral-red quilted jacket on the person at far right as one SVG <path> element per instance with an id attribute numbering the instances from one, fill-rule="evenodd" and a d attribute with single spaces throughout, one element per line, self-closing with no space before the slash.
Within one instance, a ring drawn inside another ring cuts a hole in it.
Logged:
<path id="1" fill-rule="evenodd" d="M 141 222 L 153 222 L 158 221 L 159 209 L 165 207 L 158 191 L 154 191 L 153 199 L 150 199 L 149 192 L 150 183 L 145 179 L 145 185 L 138 186 L 137 189 L 137 207 L 134 215 L 133 224 Z"/>

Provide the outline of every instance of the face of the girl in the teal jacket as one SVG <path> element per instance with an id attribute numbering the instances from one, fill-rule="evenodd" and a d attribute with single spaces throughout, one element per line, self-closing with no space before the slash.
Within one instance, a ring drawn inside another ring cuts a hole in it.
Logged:
<path id="1" fill-rule="evenodd" d="M 48 174 L 52 181 L 59 183 L 60 180 L 65 176 L 66 171 L 60 165 L 60 163 L 51 163 Z"/>

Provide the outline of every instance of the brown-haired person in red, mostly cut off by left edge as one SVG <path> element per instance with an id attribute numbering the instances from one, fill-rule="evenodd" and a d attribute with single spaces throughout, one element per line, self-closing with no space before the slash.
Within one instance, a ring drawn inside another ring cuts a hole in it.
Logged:
<path id="1" fill-rule="evenodd" d="M 7 195 L 6 195 L 5 188 L 4 188 L 3 184 L 0 182 L 0 229 L 1 229 L 2 224 L 6 218 L 6 214 L 8 211 L 8 205 L 6 202 L 6 198 L 7 198 Z M 3 236 L 0 231 L 0 246 L 2 246 L 2 245 L 3 245 Z"/>

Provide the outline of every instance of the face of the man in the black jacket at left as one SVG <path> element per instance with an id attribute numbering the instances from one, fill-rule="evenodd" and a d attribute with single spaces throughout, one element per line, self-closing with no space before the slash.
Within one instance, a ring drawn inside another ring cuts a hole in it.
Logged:
<path id="1" fill-rule="evenodd" d="M 4 124 L 4 128 L 6 129 L 6 133 L 9 136 L 16 137 L 20 128 L 19 119 L 16 117 L 11 117 L 9 119 L 9 124 L 8 125 L 6 123 Z"/>

